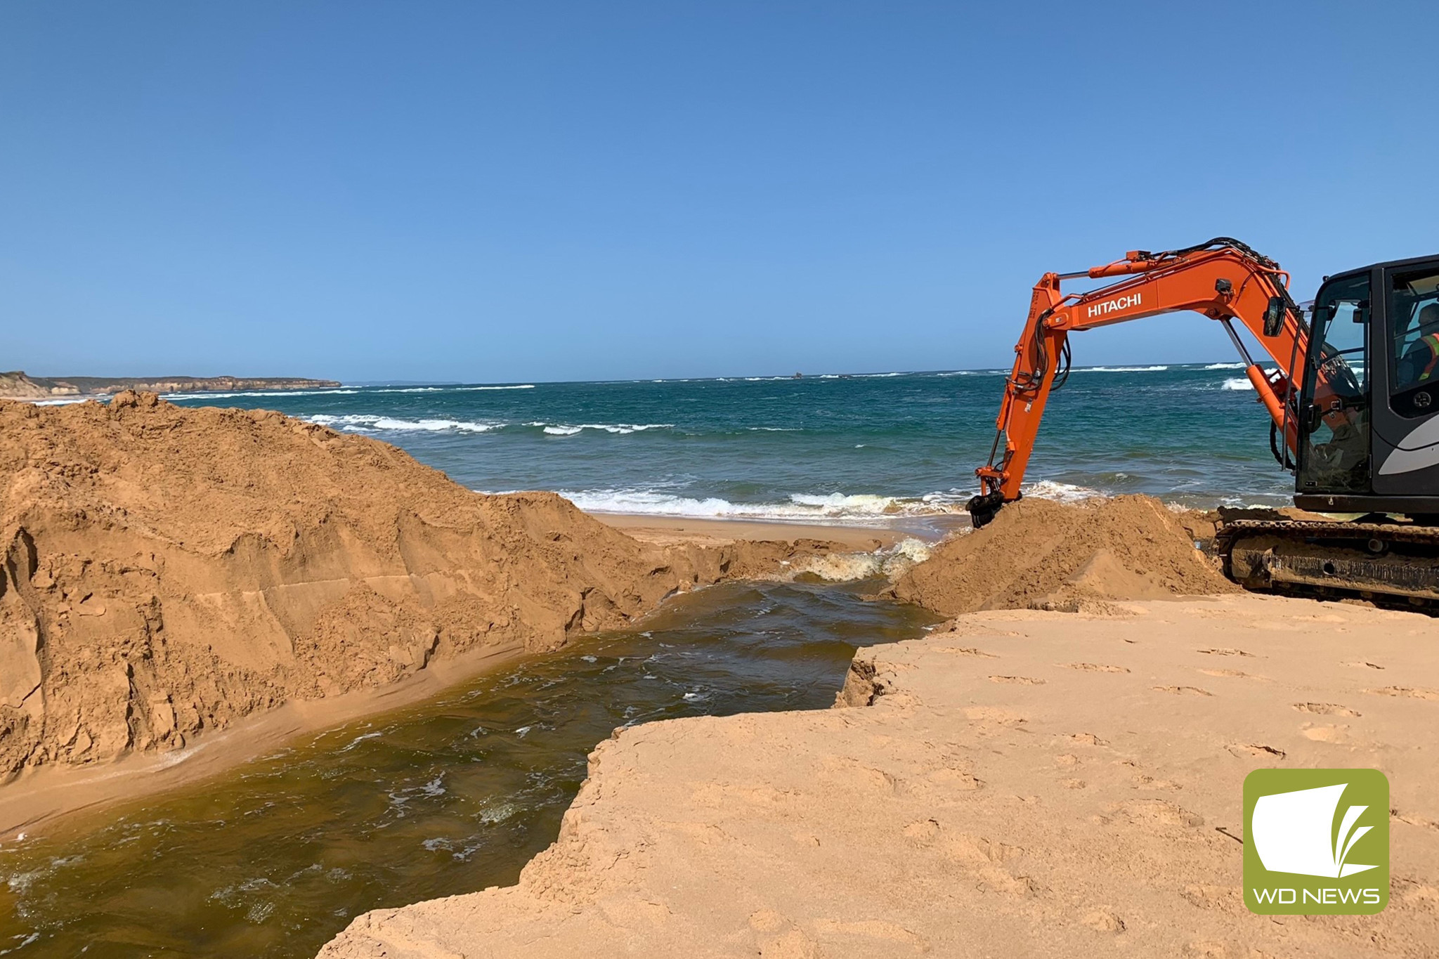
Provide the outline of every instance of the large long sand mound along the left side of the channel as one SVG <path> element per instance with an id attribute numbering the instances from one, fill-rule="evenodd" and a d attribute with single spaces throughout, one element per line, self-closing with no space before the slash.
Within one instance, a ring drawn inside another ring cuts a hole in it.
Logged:
<path id="1" fill-rule="evenodd" d="M 433 657 L 540 650 L 823 543 L 643 545 L 376 440 L 154 394 L 0 401 L 0 779 Z"/>

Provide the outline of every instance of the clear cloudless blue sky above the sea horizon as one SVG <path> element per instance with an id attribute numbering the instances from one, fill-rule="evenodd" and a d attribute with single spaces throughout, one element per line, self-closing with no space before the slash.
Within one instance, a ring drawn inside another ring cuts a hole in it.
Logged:
<path id="1" fill-rule="evenodd" d="M 1006 364 L 1029 288 L 1439 252 L 1432 6 L 0 7 L 0 370 Z M 1229 359 L 1173 316 L 1076 364 Z"/>

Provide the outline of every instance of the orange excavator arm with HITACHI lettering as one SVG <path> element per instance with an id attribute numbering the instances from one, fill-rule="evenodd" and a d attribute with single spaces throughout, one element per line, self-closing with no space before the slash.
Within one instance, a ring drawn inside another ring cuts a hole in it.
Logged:
<path id="1" fill-rule="evenodd" d="M 1079 295 L 1065 295 L 1066 279 L 1122 277 Z M 1122 260 L 1078 273 L 1045 273 L 1035 285 L 1014 367 L 1004 384 L 989 463 L 979 467 L 980 495 L 968 510 L 983 526 L 1020 483 L 1052 390 L 1069 372 L 1069 334 L 1158 313 L 1193 311 L 1223 324 L 1245 361 L 1245 375 L 1274 418 L 1286 450 L 1295 450 L 1295 377 L 1304 367 L 1308 328 L 1288 292 L 1279 265 L 1238 240 L 1219 237 L 1183 250 L 1132 250 Z M 1272 377 L 1253 361 L 1233 322 L 1243 324 L 1276 367 Z"/>

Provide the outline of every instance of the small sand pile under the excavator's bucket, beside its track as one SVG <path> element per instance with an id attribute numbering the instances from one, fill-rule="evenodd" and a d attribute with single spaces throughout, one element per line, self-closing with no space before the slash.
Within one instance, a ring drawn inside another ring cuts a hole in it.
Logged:
<path id="1" fill-rule="evenodd" d="M 1148 496 L 1120 496 L 1010 503 L 989 526 L 940 543 L 894 595 L 957 615 L 1236 589 L 1194 549 L 1177 515 Z"/>

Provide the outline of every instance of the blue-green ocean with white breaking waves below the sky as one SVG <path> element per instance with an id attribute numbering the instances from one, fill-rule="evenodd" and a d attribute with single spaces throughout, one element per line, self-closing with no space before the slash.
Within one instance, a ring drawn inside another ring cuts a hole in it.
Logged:
<path id="1" fill-rule="evenodd" d="M 342 387 L 167 397 L 265 407 L 403 447 L 484 492 L 557 490 L 661 516 L 924 522 L 976 492 L 1006 371 Z M 1075 368 L 1026 495 L 1282 505 L 1263 408 L 1238 364 Z"/>

